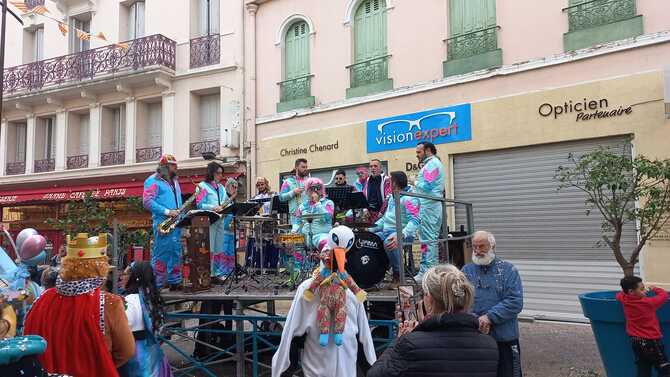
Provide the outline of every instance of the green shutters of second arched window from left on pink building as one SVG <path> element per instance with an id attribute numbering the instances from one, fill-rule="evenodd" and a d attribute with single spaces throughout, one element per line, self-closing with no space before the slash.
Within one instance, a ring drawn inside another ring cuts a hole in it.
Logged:
<path id="1" fill-rule="evenodd" d="M 362 1 L 354 17 L 354 61 L 385 56 L 386 1 Z"/>

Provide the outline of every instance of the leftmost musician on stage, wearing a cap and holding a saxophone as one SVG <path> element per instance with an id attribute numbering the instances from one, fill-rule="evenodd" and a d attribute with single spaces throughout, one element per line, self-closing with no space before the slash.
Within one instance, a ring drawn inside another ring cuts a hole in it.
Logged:
<path id="1" fill-rule="evenodd" d="M 156 173 L 144 181 L 142 199 L 153 221 L 151 266 L 156 275 L 156 285 L 160 289 L 167 280 L 170 290 L 178 290 L 181 285 L 181 229 L 175 228 L 167 234 L 158 231 L 159 224 L 168 217 L 176 217 L 182 205 L 177 159 L 173 155 L 161 156 Z"/>

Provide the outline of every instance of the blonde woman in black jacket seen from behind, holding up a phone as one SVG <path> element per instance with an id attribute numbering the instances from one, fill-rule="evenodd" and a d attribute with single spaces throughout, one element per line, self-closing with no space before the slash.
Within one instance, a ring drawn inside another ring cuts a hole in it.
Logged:
<path id="1" fill-rule="evenodd" d="M 475 290 L 465 275 L 453 265 L 438 265 L 426 271 L 422 288 L 425 317 L 400 325 L 399 338 L 367 377 L 495 377 L 498 346 L 479 332 L 470 313 Z"/>

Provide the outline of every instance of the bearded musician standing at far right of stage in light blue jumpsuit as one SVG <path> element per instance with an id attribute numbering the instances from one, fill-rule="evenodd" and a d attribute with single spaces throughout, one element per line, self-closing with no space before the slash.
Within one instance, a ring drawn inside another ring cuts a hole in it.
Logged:
<path id="1" fill-rule="evenodd" d="M 417 177 L 416 192 L 424 195 L 444 197 L 445 170 L 442 161 L 437 157 L 437 149 L 430 142 L 421 142 L 416 146 L 416 157 L 423 162 L 423 167 Z M 421 209 L 419 218 L 421 227 L 419 239 L 421 240 L 421 267 L 414 280 L 423 280 L 423 274 L 429 268 L 437 265 L 437 242 L 442 228 L 442 202 L 420 199 Z"/>

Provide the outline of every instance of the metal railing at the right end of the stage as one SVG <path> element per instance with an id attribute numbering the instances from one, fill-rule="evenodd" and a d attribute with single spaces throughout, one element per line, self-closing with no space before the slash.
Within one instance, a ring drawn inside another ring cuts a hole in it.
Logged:
<path id="1" fill-rule="evenodd" d="M 467 203 L 459 200 L 453 200 L 453 199 L 446 199 L 442 198 L 439 196 L 432 196 L 432 195 L 426 195 L 426 194 L 419 194 L 416 192 L 407 192 L 407 191 L 399 191 L 399 190 L 394 190 L 393 191 L 393 201 L 395 202 L 395 218 L 400 219 L 401 218 L 401 212 L 400 212 L 400 198 L 401 196 L 410 196 L 414 198 L 419 198 L 419 199 L 427 199 L 427 200 L 432 200 L 436 202 L 442 203 L 442 235 L 446 238 L 439 238 L 434 241 L 421 241 L 419 240 L 419 243 L 421 244 L 433 244 L 437 243 L 438 245 L 440 243 L 444 244 L 444 248 L 446 251 L 447 255 L 447 261 L 451 260 L 451 256 L 449 254 L 449 241 L 457 241 L 457 240 L 463 240 L 463 239 L 469 239 L 472 237 L 472 234 L 474 233 L 475 229 L 475 223 L 473 219 L 473 213 L 472 213 L 472 203 Z M 448 229 L 448 221 L 447 221 L 447 208 L 449 207 L 456 207 L 456 206 L 465 206 L 465 213 L 466 213 L 466 222 L 467 222 L 467 232 L 464 236 L 457 236 L 457 237 L 449 237 L 449 229 Z M 419 212 L 421 214 L 421 212 Z M 396 221 L 395 222 L 395 228 L 396 228 L 396 234 L 402 234 L 402 221 Z M 404 253 L 404 247 L 408 245 L 413 245 L 415 242 L 405 242 L 404 240 L 401 240 L 398 238 L 398 253 L 400 254 L 400 284 L 405 284 L 405 253 Z M 411 257 L 411 255 L 410 255 Z M 440 262 L 447 262 L 447 261 L 440 261 Z"/>

